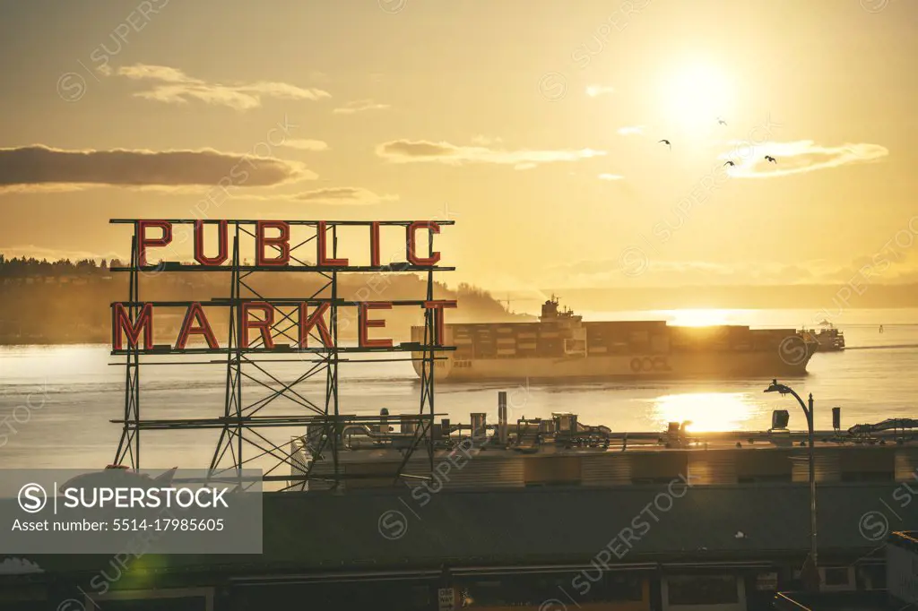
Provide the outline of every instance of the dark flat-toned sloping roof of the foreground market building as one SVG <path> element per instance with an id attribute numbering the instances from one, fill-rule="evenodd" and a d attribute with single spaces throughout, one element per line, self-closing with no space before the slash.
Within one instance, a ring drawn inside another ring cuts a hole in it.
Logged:
<path id="1" fill-rule="evenodd" d="M 869 561 L 881 556 L 890 531 L 918 529 L 918 504 L 901 507 L 897 489 L 893 483 L 821 485 L 823 563 Z M 802 561 L 809 547 L 805 484 L 434 490 L 265 494 L 262 555 L 145 556 L 143 565 L 172 572 L 587 565 L 603 548 L 622 564 L 747 563 Z M 27 560 L 47 572 L 91 572 L 110 557 Z"/>

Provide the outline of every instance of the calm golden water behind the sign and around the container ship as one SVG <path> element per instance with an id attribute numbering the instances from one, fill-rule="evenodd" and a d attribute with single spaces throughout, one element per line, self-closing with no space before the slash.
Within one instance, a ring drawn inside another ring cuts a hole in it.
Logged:
<path id="1" fill-rule="evenodd" d="M 814 312 L 800 310 L 728 310 L 584 313 L 586 319 L 669 319 L 679 324 L 728 322 L 754 327 L 812 326 Z M 809 374 L 784 379 L 801 395 L 816 400 L 817 428 L 831 428 L 831 407 L 842 406 L 844 428 L 887 417 L 918 417 L 918 310 L 850 310 L 834 318 L 845 331 L 844 353 L 817 353 Z M 879 325 L 884 332 L 879 333 Z M 883 348 L 901 344 L 911 348 Z M 288 357 L 289 358 L 289 357 Z M 294 357 L 295 358 L 295 357 Z M 305 357 L 308 358 L 308 357 Z M 360 357 L 364 358 L 364 357 Z M 150 361 L 153 361 L 150 359 Z M 201 361 L 187 359 L 187 361 Z M 0 348 L 0 468 L 96 468 L 114 459 L 124 405 L 123 361 L 106 346 Z M 274 363 L 270 372 L 290 383 L 308 368 L 301 361 Z M 417 413 L 420 385 L 410 362 L 342 363 L 341 413 L 375 415 Z M 767 376 L 767 374 L 766 374 Z M 141 371 L 141 414 L 148 418 L 217 417 L 222 414 L 225 365 L 185 364 L 145 367 Z M 261 379 L 264 379 L 261 376 Z M 297 386 L 320 404 L 324 374 Z M 497 420 L 498 390 L 509 391 L 509 417 L 549 417 L 572 411 L 581 422 L 613 430 L 661 430 L 666 422 L 690 420 L 695 430 L 762 430 L 773 409 L 790 412 L 790 427 L 805 421 L 791 397 L 763 394 L 768 379 L 729 382 L 585 383 L 568 386 L 440 383 L 436 411 L 467 423 L 470 412 Z M 245 386 L 244 403 L 261 398 L 257 383 Z M 14 411 L 15 410 L 15 411 Z M 264 415 L 304 414 L 289 401 L 276 401 Z M 14 417 L 16 419 L 14 419 Z M 9 427 L 15 428 L 13 433 Z M 297 434 L 292 428 L 260 429 L 280 443 Z M 6 434 L 6 439 L 3 435 Z M 141 466 L 186 469 L 207 467 L 218 431 L 144 432 Z M 253 456 L 254 449 L 246 450 Z M 253 461 L 251 466 L 264 466 Z"/>

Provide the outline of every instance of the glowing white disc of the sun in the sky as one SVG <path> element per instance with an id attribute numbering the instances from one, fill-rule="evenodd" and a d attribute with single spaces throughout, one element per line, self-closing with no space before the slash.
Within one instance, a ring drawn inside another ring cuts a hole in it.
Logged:
<path id="1" fill-rule="evenodd" d="M 692 63 L 667 73 L 661 82 L 666 123 L 683 133 L 707 134 L 722 128 L 733 114 L 733 85 L 726 74 L 705 63 Z"/>

